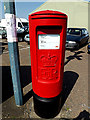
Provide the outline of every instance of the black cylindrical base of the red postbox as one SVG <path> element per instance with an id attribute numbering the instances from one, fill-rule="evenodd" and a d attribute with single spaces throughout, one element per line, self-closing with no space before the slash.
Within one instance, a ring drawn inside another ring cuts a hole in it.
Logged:
<path id="1" fill-rule="evenodd" d="M 42 98 L 33 93 L 35 113 L 42 118 L 54 118 L 61 109 L 61 94 L 53 98 Z"/>

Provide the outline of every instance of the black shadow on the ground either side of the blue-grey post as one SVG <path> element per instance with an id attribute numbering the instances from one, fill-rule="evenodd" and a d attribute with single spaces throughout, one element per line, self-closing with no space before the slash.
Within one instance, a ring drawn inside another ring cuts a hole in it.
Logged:
<path id="1" fill-rule="evenodd" d="M 31 83 L 31 66 L 21 66 L 20 71 L 22 88 L 24 88 Z M 2 66 L 2 102 L 13 96 L 13 94 L 10 66 Z M 30 96 L 32 96 L 32 91 L 24 96 L 24 101 L 27 101 Z"/>

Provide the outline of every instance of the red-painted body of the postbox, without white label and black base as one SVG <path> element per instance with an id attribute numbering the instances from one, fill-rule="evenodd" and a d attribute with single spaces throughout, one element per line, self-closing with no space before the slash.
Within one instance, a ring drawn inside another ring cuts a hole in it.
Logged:
<path id="1" fill-rule="evenodd" d="M 62 91 L 66 28 L 67 16 L 61 12 L 46 10 L 29 15 L 32 87 L 40 97 L 55 97 Z M 60 48 L 39 49 L 39 34 L 59 34 Z"/>

